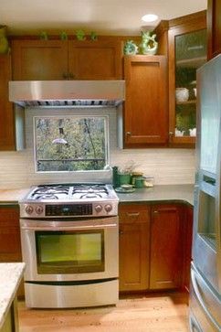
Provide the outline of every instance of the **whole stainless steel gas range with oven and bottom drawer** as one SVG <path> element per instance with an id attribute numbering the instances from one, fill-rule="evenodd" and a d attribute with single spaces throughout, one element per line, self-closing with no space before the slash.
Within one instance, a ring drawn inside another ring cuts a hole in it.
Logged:
<path id="1" fill-rule="evenodd" d="M 110 185 L 34 187 L 20 201 L 28 307 L 118 301 L 118 197 Z"/>

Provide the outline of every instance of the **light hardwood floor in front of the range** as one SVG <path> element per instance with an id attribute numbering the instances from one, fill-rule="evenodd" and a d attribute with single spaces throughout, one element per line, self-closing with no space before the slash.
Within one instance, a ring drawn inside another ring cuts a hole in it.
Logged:
<path id="1" fill-rule="evenodd" d="M 18 303 L 20 332 L 187 332 L 187 295 L 132 295 L 89 309 L 27 309 Z"/>

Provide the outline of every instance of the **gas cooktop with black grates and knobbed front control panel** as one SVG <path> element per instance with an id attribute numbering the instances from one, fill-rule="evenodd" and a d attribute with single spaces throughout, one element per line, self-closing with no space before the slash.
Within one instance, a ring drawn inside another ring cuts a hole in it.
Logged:
<path id="1" fill-rule="evenodd" d="M 52 184 L 33 187 L 19 202 L 21 218 L 114 216 L 119 198 L 111 185 Z"/>

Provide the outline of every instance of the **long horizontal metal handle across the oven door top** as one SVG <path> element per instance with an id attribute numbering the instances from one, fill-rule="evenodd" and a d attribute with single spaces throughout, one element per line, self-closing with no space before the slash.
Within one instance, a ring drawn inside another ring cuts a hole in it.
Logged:
<path id="1" fill-rule="evenodd" d="M 100 224 L 100 225 L 85 225 L 85 226 L 25 226 L 22 227 L 23 230 L 96 230 L 96 229 L 110 229 L 116 228 L 118 225 L 116 223 L 110 224 Z"/>

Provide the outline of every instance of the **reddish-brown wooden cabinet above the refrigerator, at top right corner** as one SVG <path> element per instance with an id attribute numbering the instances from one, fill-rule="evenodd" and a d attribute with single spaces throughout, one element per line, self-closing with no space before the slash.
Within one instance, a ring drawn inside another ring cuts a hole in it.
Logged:
<path id="1" fill-rule="evenodd" d="M 221 53 L 221 0 L 207 1 L 208 59 Z"/>

